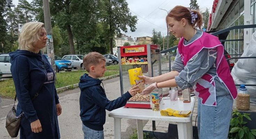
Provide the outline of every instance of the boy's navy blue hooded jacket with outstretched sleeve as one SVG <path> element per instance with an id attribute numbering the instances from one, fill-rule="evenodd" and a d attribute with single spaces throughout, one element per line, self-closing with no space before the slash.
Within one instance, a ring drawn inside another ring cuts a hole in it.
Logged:
<path id="1" fill-rule="evenodd" d="M 101 80 L 94 79 L 88 74 L 80 77 L 80 117 L 85 126 L 90 129 L 101 131 L 106 122 L 106 110 L 125 106 L 126 101 L 132 96 L 127 91 L 115 100 L 108 100 L 104 88 L 101 87 Z M 103 85 L 103 84 L 102 84 Z M 104 86 L 103 86 L 104 87 Z"/>

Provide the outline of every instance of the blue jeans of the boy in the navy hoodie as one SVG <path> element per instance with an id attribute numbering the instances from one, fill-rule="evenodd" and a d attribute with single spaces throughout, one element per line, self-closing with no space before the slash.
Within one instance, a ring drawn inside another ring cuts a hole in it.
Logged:
<path id="1" fill-rule="evenodd" d="M 84 139 L 104 139 L 103 130 L 97 131 L 90 128 L 87 128 L 83 124 L 83 132 L 84 132 Z"/>

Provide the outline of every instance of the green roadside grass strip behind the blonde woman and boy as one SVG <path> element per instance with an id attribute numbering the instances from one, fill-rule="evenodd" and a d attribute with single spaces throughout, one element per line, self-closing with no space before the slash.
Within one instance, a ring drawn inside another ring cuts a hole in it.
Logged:
<path id="1" fill-rule="evenodd" d="M 114 66 L 114 65 L 113 65 Z M 80 76 L 87 73 L 85 70 L 62 72 L 56 74 L 57 80 L 55 82 L 56 88 L 65 87 L 79 82 Z M 118 74 L 119 71 L 106 71 L 104 77 Z M 3 98 L 14 98 L 15 87 L 13 79 L 0 80 L 0 96 Z"/>

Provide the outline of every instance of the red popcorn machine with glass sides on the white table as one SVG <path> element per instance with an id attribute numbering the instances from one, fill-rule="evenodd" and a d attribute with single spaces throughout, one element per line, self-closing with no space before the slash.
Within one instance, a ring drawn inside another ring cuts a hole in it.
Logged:
<path id="1" fill-rule="evenodd" d="M 136 46 L 117 47 L 119 59 L 119 74 L 121 95 L 124 91 L 131 88 L 128 70 L 141 68 L 142 74 L 148 77 L 161 75 L 160 48 L 153 44 L 143 44 Z M 148 85 L 145 85 L 145 88 Z M 160 98 L 162 98 L 162 89 L 157 89 Z M 152 108 L 152 99 L 149 95 L 140 95 L 139 93 L 127 101 L 127 108 Z"/>

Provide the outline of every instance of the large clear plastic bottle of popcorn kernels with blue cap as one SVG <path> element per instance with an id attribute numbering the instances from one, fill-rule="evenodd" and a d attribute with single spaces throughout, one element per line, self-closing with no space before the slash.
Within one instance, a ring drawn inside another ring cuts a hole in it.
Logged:
<path id="1" fill-rule="evenodd" d="M 236 108 L 241 111 L 247 111 L 250 108 L 250 95 L 244 84 L 240 85 L 236 98 Z"/>

